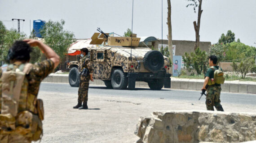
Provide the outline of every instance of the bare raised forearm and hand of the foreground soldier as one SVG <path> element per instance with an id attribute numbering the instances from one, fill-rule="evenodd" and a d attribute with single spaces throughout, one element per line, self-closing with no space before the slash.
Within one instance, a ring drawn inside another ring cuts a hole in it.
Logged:
<path id="1" fill-rule="evenodd" d="M 54 68 L 56 68 L 57 65 L 60 63 L 60 57 L 54 52 L 54 50 L 49 46 L 45 45 L 44 43 L 40 42 L 39 40 L 26 39 L 23 41 L 27 42 L 30 46 L 38 46 L 40 50 L 44 52 L 47 59 L 50 59 L 53 61 Z"/>

